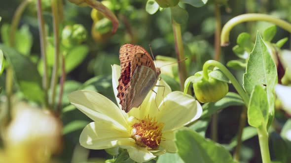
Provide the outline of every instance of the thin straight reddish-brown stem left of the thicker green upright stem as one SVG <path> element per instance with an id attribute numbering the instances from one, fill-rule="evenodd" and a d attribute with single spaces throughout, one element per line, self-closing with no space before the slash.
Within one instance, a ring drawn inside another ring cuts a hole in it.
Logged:
<path id="1" fill-rule="evenodd" d="M 47 61 L 46 61 L 46 34 L 44 28 L 44 20 L 41 10 L 41 0 L 37 0 L 37 19 L 38 19 L 38 30 L 39 30 L 39 41 L 40 41 L 40 54 L 43 61 L 43 76 L 42 76 L 42 87 L 44 90 L 44 107 L 48 108 L 48 78 L 47 78 Z"/>

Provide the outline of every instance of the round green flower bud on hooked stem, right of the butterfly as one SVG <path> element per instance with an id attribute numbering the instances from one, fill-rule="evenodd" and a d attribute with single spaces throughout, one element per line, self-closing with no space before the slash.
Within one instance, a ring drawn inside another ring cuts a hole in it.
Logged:
<path id="1" fill-rule="evenodd" d="M 203 72 L 199 71 L 194 75 L 193 88 L 198 101 L 201 103 L 216 102 L 222 99 L 228 92 L 228 84 L 209 76 L 203 77 Z"/>

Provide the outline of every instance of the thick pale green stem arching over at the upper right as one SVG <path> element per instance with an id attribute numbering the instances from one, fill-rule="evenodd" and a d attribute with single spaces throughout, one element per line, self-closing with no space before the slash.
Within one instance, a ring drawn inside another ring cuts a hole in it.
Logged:
<path id="1" fill-rule="evenodd" d="M 237 24 L 249 21 L 266 21 L 273 23 L 291 33 L 291 24 L 266 14 L 243 14 L 230 19 L 221 31 L 221 46 L 227 46 L 229 43 L 229 32 Z"/>

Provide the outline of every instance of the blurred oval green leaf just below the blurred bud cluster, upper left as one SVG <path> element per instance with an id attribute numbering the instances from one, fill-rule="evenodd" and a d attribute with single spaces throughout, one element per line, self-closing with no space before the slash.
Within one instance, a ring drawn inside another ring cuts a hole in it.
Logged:
<path id="1" fill-rule="evenodd" d="M 65 57 L 66 58 L 66 72 L 69 73 L 76 66 L 78 66 L 85 59 L 88 52 L 89 52 L 89 48 L 85 45 L 80 45 L 73 48 Z"/>

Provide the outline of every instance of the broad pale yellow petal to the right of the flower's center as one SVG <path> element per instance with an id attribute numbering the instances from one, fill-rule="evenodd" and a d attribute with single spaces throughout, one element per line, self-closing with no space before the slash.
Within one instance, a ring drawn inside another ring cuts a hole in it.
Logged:
<path id="1" fill-rule="evenodd" d="M 156 116 L 159 122 L 165 123 L 163 132 L 181 128 L 202 114 L 202 107 L 192 96 L 174 91 L 165 97 Z"/>

